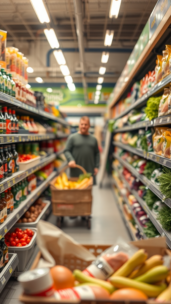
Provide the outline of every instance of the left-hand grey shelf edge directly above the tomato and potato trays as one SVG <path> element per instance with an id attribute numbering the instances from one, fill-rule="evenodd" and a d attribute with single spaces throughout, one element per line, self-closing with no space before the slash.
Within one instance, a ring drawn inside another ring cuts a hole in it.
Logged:
<path id="1" fill-rule="evenodd" d="M 56 172 L 53 171 L 48 178 L 41 183 L 33 192 L 31 192 L 27 198 L 21 202 L 18 208 L 14 209 L 14 211 L 7 216 L 6 221 L 0 226 L 0 239 L 7 233 L 12 226 L 18 221 L 18 219 L 27 211 L 27 209 L 35 202 L 41 193 L 46 190 L 49 186 L 51 180 L 56 176 Z"/>

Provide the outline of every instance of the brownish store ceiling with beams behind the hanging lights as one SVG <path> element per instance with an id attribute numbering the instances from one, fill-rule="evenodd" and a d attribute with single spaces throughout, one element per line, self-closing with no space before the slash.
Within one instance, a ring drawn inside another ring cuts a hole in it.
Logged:
<path id="1" fill-rule="evenodd" d="M 82 1 L 84 47 L 105 48 L 103 43 L 106 29 L 114 29 L 113 42 L 108 51 L 110 52 L 110 49 L 116 48 L 126 49 L 125 53 L 117 54 L 117 56 L 115 56 L 116 53 L 113 53 L 112 57 L 111 53 L 108 64 L 110 72 L 113 71 L 115 74 L 108 75 L 107 82 L 116 82 L 126 64 L 130 50 L 133 49 L 138 40 L 156 2 L 157 0 L 122 0 L 118 18 L 110 19 L 111 0 Z M 46 0 L 44 3 L 50 14 L 50 26 L 55 27 L 60 47 L 78 48 L 73 0 Z M 47 26 L 39 22 L 30 0 L 1 0 L 0 5 L 0 28 L 8 32 L 8 45 L 18 47 L 19 44 L 23 45 L 25 43 L 26 45 L 30 41 L 35 43 L 37 41 L 47 42 L 43 32 L 43 29 Z M 47 49 L 49 48 L 48 45 Z M 97 52 L 96 54 L 96 50 L 93 53 L 94 72 L 97 72 L 100 66 L 101 53 Z M 86 54 L 85 68 L 86 72 L 90 72 L 89 66 L 92 63 L 90 63 L 88 57 L 86 58 Z M 25 52 L 25 55 L 29 57 L 30 54 Z M 120 57 L 118 57 L 119 55 Z M 39 54 L 37 54 L 38 56 Z M 118 64 L 118 60 L 120 64 Z M 67 64 L 69 68 L 70 64 L 73 64 L 73 62 L 70 63 L 69 56 Z M 46 66 L 46 62 L 44 62 L 44 66 Z M 35 74 L 33 76 L 35 77 Z M 86 78 L 87 82 L 89 80 L 90 82 L 93 81 L 91 75 L 86 76 Z M 61 80 L 59 79 L 59 81 Z"/>

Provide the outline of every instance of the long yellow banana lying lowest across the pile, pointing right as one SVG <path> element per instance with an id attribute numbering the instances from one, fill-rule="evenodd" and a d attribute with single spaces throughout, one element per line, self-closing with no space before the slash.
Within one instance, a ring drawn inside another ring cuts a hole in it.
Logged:
<path id="1" fill-rule="evenodd" d="M 130 278 L 124 278 L 124 277 L 120 277 L 120 276 L 110 277 L 109 280 L 113 284 L 114 287 L 136 288 L 136 289 L 143 291 L 150 298 L 156 298 L 167 287 L 167 285 L 165 283 L 161 283 L 160 285 L 151 285 L 148 283 L 138 282 L 138 281 L 132 280 Z"/>

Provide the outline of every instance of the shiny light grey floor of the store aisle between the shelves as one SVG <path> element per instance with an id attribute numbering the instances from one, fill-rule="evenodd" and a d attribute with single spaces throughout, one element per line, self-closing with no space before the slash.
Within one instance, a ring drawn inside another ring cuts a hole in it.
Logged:
<path id="1" fill-rule="evenodd" d="M 48 218 L 56 224 L 56 216 L 50 215 Z M 88 230 L 86 222 L 81 218 L 64 218 L 62 230 L 68 233 L 81 244 L 113 244 L 118 236 L 129 241 L 130 235 L 124 225 L 117 206 L 114 202 L 110 181 L 105 178 L 103 188 L 93 186 L 93 205 L 91 229 Z M 0 294 L 0 304 L 19 304 L 19 296 L 22 288 L 19 283 L 11 278 L 4 290 Z"/>

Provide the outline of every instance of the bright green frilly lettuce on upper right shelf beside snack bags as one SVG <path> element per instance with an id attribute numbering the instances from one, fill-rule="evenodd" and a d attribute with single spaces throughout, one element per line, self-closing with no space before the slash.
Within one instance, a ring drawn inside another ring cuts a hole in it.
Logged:
<path id="1" fill-rule="evenodd" d="M 158 117 L 158 111 L 159 111 L 159 103 L 162 96 L 159 97 L 150 97 L 147 100 L 147 106 L 144 110 L 147 117 L 152 120 L 155 117 Z"/>

